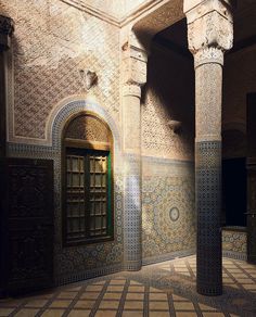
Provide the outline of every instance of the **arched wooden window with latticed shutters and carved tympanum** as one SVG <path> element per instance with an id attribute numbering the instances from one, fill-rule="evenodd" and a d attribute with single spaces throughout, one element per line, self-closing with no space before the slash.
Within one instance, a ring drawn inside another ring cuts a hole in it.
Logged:
<path id="1" fill-rule="evenodd" d="M 75 113 L 62 132 L 63 245 L 114 239 L 113 136 L 91 111 Z"/>

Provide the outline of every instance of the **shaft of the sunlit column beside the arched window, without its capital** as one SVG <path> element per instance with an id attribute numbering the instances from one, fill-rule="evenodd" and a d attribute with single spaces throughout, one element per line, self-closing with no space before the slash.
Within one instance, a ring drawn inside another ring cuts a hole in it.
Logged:
<path id="1" fill-rule="evenodd" d="M 141 89 L 126 85 L 123 96 L 123 128 L 125 149 L 125 214 L 124 262 L 128 270 L 139 270 L 141 252 Z"/>

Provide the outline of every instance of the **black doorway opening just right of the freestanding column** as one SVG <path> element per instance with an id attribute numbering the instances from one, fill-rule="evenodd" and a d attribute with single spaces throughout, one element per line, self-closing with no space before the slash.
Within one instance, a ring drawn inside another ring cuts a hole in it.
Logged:
<path id="1" fill-rule="evenodd" d="M 246 158 L 222 161 L 225 226 L 246 226 Z"/>

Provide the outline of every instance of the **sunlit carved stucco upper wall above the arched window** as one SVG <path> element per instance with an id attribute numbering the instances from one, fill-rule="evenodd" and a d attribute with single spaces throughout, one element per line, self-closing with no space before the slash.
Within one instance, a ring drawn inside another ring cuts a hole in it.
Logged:
<path id="1" fill-rule="evenodd" d="M 44 138 L 54 105 L 86 92 L 80 69 L 97 72 L 99 84 L 90 96 L 118 119 L 117 27 L 59 0 L 10 0 L 0 5 L 1 12 L 15 21 L 14 87 L 13 100 L 9 100 L 9 106 L 14 107 L 10 109 L 14 115 L 10 128 L 15 136 Z"/>

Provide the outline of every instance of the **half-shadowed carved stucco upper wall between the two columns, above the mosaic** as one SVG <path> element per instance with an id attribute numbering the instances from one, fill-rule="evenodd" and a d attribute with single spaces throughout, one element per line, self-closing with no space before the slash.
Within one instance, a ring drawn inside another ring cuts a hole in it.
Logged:
<path id="1" fill-rule="evenodd" d="M 142 153 L 193 160 L 193 62 L 159 47 L 152 48 L 142 104 Z M 170 121 L 181 122 L 175 134 Z"/>

